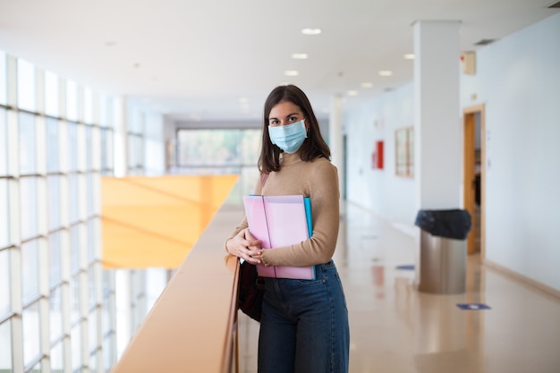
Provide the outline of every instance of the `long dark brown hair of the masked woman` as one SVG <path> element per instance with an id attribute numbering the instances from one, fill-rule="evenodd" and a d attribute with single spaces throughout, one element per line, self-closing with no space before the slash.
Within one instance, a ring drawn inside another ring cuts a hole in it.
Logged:
<path id="1" fill-rule="evenodd" d="M 301 89 L 292 84 L 278 86 L 270 92 L 265 102 L 262 123 L 262 148 L 260 148 L 259 157 L 259 171 L 261 173 L 269 174 L 273 171 L 280 170 L 280 153 L 284 150 L 278 148 L 270 140 L 270 134 L 268 133 L 268 116 L 274 106 L 284 101 L 291 102 L 293 105 L 298 106 L 305 118 L 305 123 L 309 126 L 307 139 L 303 141 L 299 149 L 301 160 L 310 161 L 318 157 L 325 157 L 327 159 L 331 157 L 330 148 L 328 148 L 327 142 L 325 142 L 321 136 L 318 120 L 315 113 L 313 113 L 313 108 L 311 107 L 308 97 Z"/>

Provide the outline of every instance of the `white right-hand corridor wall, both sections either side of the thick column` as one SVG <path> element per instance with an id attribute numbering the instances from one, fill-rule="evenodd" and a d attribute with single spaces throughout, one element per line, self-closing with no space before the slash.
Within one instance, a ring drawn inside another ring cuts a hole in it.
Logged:
<path id="1" fill-rule="evenodd" d="M 479 49 L 461 106 L 486 106 L 486 258 L 560 291 L 558 35 L 560 13 Z M 395 129 L 412 125 L 412 102 L 411 83 L 344 116 L 348 199 L 410 225 L 414 181 L 395 177 L 394 163 Z M 374 140 L 385 140 L 383 171 L 370 165 Z"/>

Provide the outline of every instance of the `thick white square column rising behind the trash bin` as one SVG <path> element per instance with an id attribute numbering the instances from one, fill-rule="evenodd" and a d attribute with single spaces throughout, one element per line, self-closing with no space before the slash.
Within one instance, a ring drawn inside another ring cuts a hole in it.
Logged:
<path id="1" fill-rule="evenodd" d="M 459 21 L 416 21 L 414 164 L 419 209 L 461 206 Z"/>

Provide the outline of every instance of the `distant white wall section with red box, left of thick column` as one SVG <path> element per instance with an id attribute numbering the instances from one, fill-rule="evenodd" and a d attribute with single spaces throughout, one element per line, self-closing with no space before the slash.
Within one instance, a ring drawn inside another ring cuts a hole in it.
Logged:
<path id="1" fill-rule="evenodd" d="M 344 115 L 347 199 L 395 222 L 414 224 L 414 179 L 395 176 L 395 131 L 412 127 L 413 85 L 387 92 Z M 373 169 L 374 143 L 384 141 L 384 168 Z"/>

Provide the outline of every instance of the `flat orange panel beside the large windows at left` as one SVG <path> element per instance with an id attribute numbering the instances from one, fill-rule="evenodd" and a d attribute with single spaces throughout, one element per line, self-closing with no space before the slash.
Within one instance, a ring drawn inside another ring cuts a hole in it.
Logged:
<path id="1" fill-rule="evenodd" d="M 237 178 L 103 177 L 103 266 L 179 267 Z"/>

